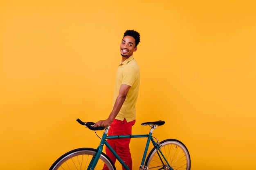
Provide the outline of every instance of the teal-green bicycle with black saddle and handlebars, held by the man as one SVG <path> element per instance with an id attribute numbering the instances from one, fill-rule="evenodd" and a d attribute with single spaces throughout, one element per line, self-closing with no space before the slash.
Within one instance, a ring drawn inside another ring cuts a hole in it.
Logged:
<path id="1" fill-rule="evenodd" d="M 102 152 L 104 145 L 110 149 L 113 155 L 115 155 L 117 160 L 121 163 L 122 166 L 125 167 L 126 170 L 130 170 L 124 161 L 122 161 L 122 159 L 108 144 L 108 140 L 118 138 L 148 138 L 139 170 L 190 170 L 191 160 L 189 151 L 181 141 L 176 139 L 166 139 L 159 142 L 158 139 L 152 136 L 153 130 L 159 126 L 164 125 L 165 121 L 142 123 L 141 125 L 149 125 L 151 127 L 149 134 L 146 135 L 116 136 L 107 136 L 110 126 L 107 128 L 94 127 L 95 123 L 93 122 L 85 123 L 80 119 L 77 119 L 76 121 L 78 121 L 81 125 L 85 125 L 90 130 L 94 130 L 95 133 L 96 130 L 105 129 L 98 148 L 78 148 L 71 150 L 58 158 L 52 164 L 49 170 L 116 170 L 116 167 L 110 158 L 104 152 Z M 154 138 L 157 141 L 155 141 Z M 150 141 L 153 144 L 153 149 L 149 152 L 146 158 Z"/>

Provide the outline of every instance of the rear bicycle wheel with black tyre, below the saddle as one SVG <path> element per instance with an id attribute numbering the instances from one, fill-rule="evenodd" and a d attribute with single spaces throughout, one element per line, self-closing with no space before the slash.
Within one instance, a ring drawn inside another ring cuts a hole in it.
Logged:
<path id="1" fill-rule="evenodd" d="M 190 170 L 189 151 L 182 142 L 176 139 L 166 139 L 160 142 L 160 144 L 162 144 L 160 150 L 173 170 Z M 166 161 L 162 156 L 160 157 L 156 147 L 148 154 L 145 165 L 149 170 L 168 169 Z"/>

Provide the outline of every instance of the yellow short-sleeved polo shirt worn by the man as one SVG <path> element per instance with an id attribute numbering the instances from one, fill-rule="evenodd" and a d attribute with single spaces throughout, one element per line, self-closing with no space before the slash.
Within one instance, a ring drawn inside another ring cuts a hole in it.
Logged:
<path id="1" fill-rule="evenodd" d="M 124 62 L 120 62 L 117 69 L 116 81 L 115 81 L 115 91 L 113 98 L 113 106 L 119 94 L 119 89 L 121 84 L 126 84 L 131 86 L 126 95 L 121 110 L 119 111 L 116 119 L 123 121 L 124 118 L 127 122 L 135 120 L 136 117 L 136 108 L 135 104 L 137 102 L 138 93 L 139 93 L 139 81 L 140 81 L 140 70 L 137 62 L 131 55 Z"/>

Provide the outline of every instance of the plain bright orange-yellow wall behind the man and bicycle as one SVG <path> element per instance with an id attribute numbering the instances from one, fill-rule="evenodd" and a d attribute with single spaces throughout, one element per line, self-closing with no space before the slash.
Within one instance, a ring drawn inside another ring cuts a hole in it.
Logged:
<path id="1" fill-rule="evenodd" d="M 2 0 L 0 169 L 45 170 L 99 144 L 76 118 L 110 113 L 126 29 L 141 33 L 133 132 L 162 119 L 155 136 L 181 140 L 191 170 L 256 169 L 255 9 L 253 0 Z M 131 142 L 134 169 L 144 143 Z"/>

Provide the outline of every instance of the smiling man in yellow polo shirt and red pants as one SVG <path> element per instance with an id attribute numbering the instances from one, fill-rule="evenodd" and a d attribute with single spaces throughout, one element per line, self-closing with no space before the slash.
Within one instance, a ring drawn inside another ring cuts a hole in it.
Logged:
<path id="1" fill-rule="evenodd" d="M 140 71 L 139 66 L 133 58 L 133 52 L 137 51 L 140 42 L 140 35 L 137 31 L 127 30 L 120 44 L 121 62 L 117 69 L 115 91 L 113 99 L 113 109 L 108 119 L 100 120 L 95 127 L 110 126 L 108 132 L 112 135 L 131 135 L 132 126 L 135 124 L 136 108 Z M 110 146 L 117 152 L 121 159 L 132 170 L 132 158 L 130 155 L 130 138 L 113 139 L 108 141 Z M 106 148 L 106 154 L 115 163 L 116 158 Z M 124 167 L 122 167 L 124 170 Z"/>

